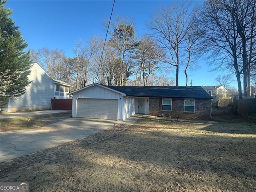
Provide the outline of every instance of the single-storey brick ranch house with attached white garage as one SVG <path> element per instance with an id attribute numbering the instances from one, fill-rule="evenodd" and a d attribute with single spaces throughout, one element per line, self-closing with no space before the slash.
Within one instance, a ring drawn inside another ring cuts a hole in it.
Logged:
<path id="1" fill-rule="evenodd" d="M 69 93 L 72 116 L 125 120 L 134 114 L 211 118 L 212 97 L 201 86 L 104 86 L 90 84 Z"/>

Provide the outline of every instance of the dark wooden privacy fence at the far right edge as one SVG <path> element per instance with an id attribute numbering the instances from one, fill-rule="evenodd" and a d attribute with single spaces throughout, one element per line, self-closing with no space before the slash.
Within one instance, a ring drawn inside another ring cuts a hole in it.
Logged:
<path id="1" fill-rule="evenodd" d="M 256 98 L 236 100 L 237 112 L 241 116 L 248 118 L 248 115 L 256 113 Z"/>

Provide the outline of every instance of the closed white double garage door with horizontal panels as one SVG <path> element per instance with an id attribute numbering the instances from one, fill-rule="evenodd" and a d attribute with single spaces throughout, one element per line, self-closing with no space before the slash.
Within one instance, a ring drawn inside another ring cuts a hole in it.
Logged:
<path id="1" fill-rule="evenodd" d="M 117 120 L 117 99 L 81 99 L 77 101 L 77 117 Z"/>

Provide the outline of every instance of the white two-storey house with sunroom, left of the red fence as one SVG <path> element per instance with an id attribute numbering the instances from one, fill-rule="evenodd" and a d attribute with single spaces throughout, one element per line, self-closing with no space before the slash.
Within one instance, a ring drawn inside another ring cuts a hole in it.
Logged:
<path id="1" fill-rule="evenodd" d="M 1 109 L 6 112 L 22 112 L 50 110 L 52 98 L 68 99 L 71 85 L 53 80 L 37 63 L 31 66 L 28 79 L 32 81 L 26 92 L 18 98 L 8 99 L 1 103 Z"/>

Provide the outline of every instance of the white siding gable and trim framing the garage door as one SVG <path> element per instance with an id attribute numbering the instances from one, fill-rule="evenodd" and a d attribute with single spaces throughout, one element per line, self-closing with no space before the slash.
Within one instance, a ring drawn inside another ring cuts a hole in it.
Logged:
<path id="1" fill-rule="evenodd" d="M 80 90 L 73 94 L 72 101 L 72 116 L 76 117 L 77 114 L 77 101 L 79 98 L 91 98 L 91 99 L 118 99 L 118 116 L 117 120 L 123 120 L 123 96 L 107 88 L 103 88 L 98 85 L 90 86 L 84 90 Z"/>

